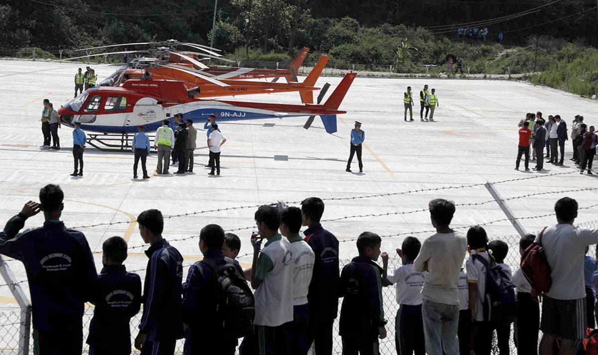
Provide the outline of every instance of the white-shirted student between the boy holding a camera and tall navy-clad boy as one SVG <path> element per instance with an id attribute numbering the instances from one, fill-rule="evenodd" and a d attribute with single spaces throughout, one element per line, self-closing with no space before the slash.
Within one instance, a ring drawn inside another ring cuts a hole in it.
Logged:
<path id="1" fill-rule="evenodd" d="M 316 261 L 312 247 L 299 235 L 301 209 L 288 207 L 280 211 L 280 234 L 291 242 L 293 267 L 293 320 L 287 323 L 286 339 L 292 355 L 307 355 L 312 346 L 308 339 L 309 304 L 307 291 L 312 282 Z"/>

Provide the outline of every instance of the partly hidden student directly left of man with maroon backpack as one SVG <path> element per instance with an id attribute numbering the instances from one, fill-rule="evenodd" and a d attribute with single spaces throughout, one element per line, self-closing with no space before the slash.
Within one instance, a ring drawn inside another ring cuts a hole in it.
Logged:
<path id="1" fill-rule="evenodd" d="M 519 240 L 519 254 L 532 245 L 536 236 L 527 234 Z M 532 297 L 532 286 L 523 271 L 518 268 L 512 279 L 517 290 L 517 319 L 515 323 L 515 346 L 519 355 L 538 355 L 538 328 L 540 327 L 540 305 L 538 297 Z"/>

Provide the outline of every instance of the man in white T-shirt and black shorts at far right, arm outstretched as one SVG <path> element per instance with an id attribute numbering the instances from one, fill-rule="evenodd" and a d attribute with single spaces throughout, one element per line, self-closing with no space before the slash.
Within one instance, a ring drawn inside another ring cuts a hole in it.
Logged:
<path id="1" fill-rule="evenodd" d="M 554 211 L 559 224 L 541 232 L 553 280 L 542 300 L 541 355 L 555 354 L 553 345 L 557 338 L 559 354 L 572 355 L 573 345 L 585 334 L 584 255 L 586 246 L 598 243 L 598 229 L 573 227 L 577 209 L 577 201 L 570 197 L 558 200 Z"/>

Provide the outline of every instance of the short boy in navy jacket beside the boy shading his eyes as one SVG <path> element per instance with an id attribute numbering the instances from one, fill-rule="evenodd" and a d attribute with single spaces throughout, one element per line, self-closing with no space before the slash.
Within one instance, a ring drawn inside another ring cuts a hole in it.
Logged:
<path id="1" fill-rule="evenodd" d="M 129 355 L 131 317 L 141 307 L 141 278 L 127 272 L 127 242 L 109 237 L 102 244 L 103 268 L 94 288 L 93 318 L 89 326 L 90 355 Z"/>

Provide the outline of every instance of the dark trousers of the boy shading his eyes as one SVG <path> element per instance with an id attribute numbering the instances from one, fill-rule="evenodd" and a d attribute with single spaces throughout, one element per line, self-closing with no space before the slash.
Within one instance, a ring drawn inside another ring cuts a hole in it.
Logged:
<path id="1" fill-rule="evenodd" d="M 40 355 L 80 355 L 83 350 L 81 321 L 54 325 L 52 331 L 33 328 L 33 351 Z"/>

